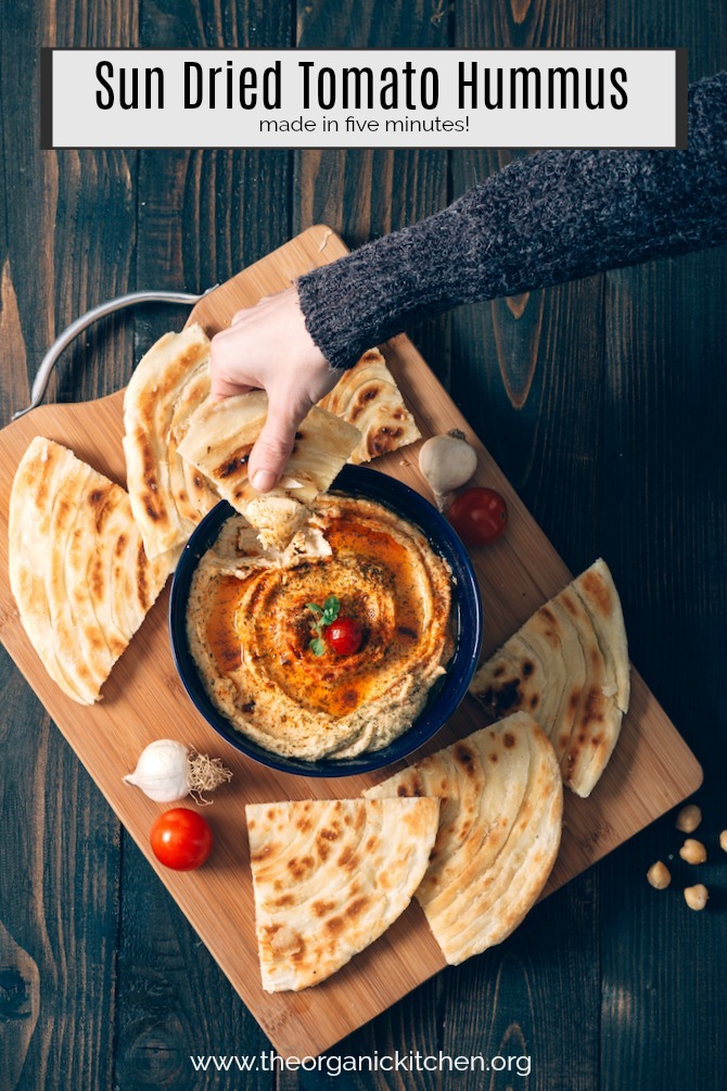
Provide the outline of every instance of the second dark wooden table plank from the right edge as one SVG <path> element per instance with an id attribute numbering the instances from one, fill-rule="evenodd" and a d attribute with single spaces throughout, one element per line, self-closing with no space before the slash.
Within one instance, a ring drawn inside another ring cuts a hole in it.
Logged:
<path id="1" fill-rule="evenodd" d="M 605 44 L 604 20 L 599 0 L 500 0 L 486 11 L 476 3 L 458 4 L 455 44 L 597 46 Z M 453 195 L 525 154 L 453 152 Z M 597 554 L 613 564 L 594 528 L 598 496 L 589 485 L 598 466 L 603 296 L 603 279 L 592 277 L 461 308 L 451 319 L 457 360 L 451 395 L 467 405 L 473 428 L 573 571 L 582 571 Z M 618 586 L 619 573 L 614 575 Z M 478 997 L 485 990 L 493 1023 L 513 1028 L 522 1051 L 537 1058 L 543 1086 L 582 1091 L 598 1086 L 597 885 L 597 877 L 587 873 L 538 907 L 511 945 L 489 952 L 493 969 L 485 981 L 495 976 L 499 987 L 476 982 L 471 994 Z M 543 936 L 548 951 L 557 951 L 553 959 L 543 957 Z M 531 958 L 523 958 L 524 945 L 530 945 Z M 460 1010 L 455 998 L 452 1003 Z M 553 1012 L 558 1009 L 578 1010 L 578 1021 L 557 1020 Z"/>

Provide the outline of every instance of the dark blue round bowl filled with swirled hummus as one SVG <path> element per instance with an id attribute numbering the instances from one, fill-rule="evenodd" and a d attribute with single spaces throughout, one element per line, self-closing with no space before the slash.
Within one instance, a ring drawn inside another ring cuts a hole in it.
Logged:
<path id="1" fill-rule="evenodd" d="M 443 719 L 423 738 L 412 731 L 447 688 L 460 644 L 461 558 L 410 508 L 457 542 L 446 521 L 373 470 L 347 467 L 336 488 L 283 553 L 263 552 L 244 519 L 215 508 L 180 561 L 170 608 L 178 669 L 210 723 L 266 764 L 313 775 L 376 768 L 425 741 Z M 362 634 L 350 655 L 312 647 L 310 606 L 331 596 Z"/>

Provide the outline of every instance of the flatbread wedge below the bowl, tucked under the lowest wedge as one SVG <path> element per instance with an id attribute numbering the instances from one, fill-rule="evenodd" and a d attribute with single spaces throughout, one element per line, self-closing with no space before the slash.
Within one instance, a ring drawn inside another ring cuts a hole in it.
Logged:
<path id="1" fill-rule="evenodd" d="M 537 900 L 560 844 L 562 783 L 531 716 L 475 731 L 364 795 L 441 799 L 416 900 L 451 966 L 501 943 Z"/>

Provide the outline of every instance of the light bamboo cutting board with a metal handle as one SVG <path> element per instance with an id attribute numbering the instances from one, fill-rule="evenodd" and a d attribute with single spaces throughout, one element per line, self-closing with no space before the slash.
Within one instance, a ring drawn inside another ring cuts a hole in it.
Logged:
<path id="1" fill-rule="evenodd" d="M 196 304 L 190 321 L 199 322 L 211 335 L 228 325 L 240 308 L 344 253 L 342 241 L 330 229 L 313 227 L 210 292 Z M 385 353 L 424 436 L 461 428 L 477 448 L 476 483 L 492 485 L 507 499 L 507 535 L 486 550 L 474 551 L 473 558 L 485 613 L 483 652 L 489 655 L 564 587 L 571 574 L 408 338 L 395 338 Z M 278 1052 L 283 1056 L 317 1054 L 426 981 L 445 962 L 423 913 L 413 903 L 379 940 L 329 981 L 298 994 L 264 993 L 257 968 L 244 805 L 283 799 L 355 798 L 387 772 L 331 780 L 292 777 L 232 751 L 201 719 L 177 678 L 167 631 L 168 590 L 116 666 L 104 687 L 102 702 L 93 708 L 76 705 L 46 675 L 10 591 L 8 504 L 25 448 L 35 435 L 48 436 L 123 483 L 122 398 L 123 392 L 118 392 L 83 405 L 43 406 L 0 432 L 0 638 Z M 409 447 L 375 465 L 427 495 L 416 455 L 417 447 Z M 465 699 L 426 750 L 437 750 L 482 723 L 477 709 Z M 148 846 L 148 831 L 165 808 L 122 782 L 144 746 L 162 736 L 222 756 L 234 774 L 231 784 L 219 789 L 214 807 L 206 812 L 215 849 L 198 872 L 174 873 L 157 863 Z M 566 792 L 560 854 L 545 894 L 681 802 L 701 780 L 694 756 L 633 671 L 631 709 L 603 779 L 590 800 Z"/>

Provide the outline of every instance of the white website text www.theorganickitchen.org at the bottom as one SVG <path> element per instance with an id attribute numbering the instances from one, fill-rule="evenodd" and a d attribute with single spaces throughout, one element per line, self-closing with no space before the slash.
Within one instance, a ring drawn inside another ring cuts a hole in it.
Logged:
<path id="1" fill-rule="evenodd" d="M 528 1055 L 422 1053 L 416 1051 L 374 1052 L 371 1055 L 322 1053 L 317 1057 L 281 1057 L 274 1050 L 255 1054 L 190 1055 L 195 1072 L 322 1072 L 343 1076 L 350 1072 L 509 1072 L 530 1076 Z"/>

